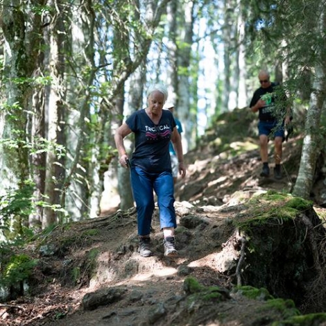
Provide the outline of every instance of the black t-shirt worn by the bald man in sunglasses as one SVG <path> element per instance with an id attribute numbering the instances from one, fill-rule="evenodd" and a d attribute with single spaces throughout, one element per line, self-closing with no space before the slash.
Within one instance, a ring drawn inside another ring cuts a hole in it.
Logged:
<path id="1" fill-rule="evenodd" d="M 286 96 L 285 94 L 276 96 L 275 87 L 277 87 L 275 83 L 271 83 L 271 86 L 268 88 L 259 87 L 252 96 L 249 108 L 252 108 L 259 99 L 266 102 L 263 108 L 259 108 L 260 121 L 275 121 L 277 116 L 280 117 L 280 112 L 277 112 L 275 107 L 275 101 L 285 100 Z"/>

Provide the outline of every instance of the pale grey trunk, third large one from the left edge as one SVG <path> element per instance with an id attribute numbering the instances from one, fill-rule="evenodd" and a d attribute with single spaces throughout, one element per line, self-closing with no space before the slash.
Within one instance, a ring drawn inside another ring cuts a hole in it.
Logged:
<path id="1" fill-rule="evenodd" d="M 62 193 L 60 198 L 60 205 L 62 207 L 67 207 L 69 215 L 74 221 L 78 221 L 82 218 L 88 218 L 89 212 L 92 210 L 95 214 L 99 213 L 99 200 L 95 200 L 95 209 L 89 207 L 89 198 L 94 189 L 94 184 L 92 182 L 96 181 L 97 178 L 92 175 L 92 179 L 89 177 L 89 168 L 94 168 L 94 173 L 98 174 L 100 162 L 91 162 L 89 164 L 85 158 L 92 157 L 92 151 L 89 151 L 90 146 L 96 146 L 96 144 L 91 144 L 89 137 L 89 120 L 90 117 L 90 103 L 92 103 L 93 98 L 93 85 L 96 80 L 97 67 L 94 62 L 95 56 L 95 43 L 94 36 L 96 33 L 95 21 L 96 15 L 94 8 L 92 8 L 92 1 L 86 1 L 85 6 L 80 7 L 79 12 L 75 12 L 76 25 L 73 31 L 76 30 L 78 33 L 83 34 L 83 37 L 74 35 L 71 33 L 71 46 L 73 53 L 76 53 L 80 57 L 81 67 L 74 67 L 78 73 L 83 76 L 83 97 L 80 103 L 75 103 L 74 98 L 69 98 L 71 103 L 76 105 L 78 113 L 73 113 L 70 115 L 71 121 L 77 124 L 74 128 L 75 141 L 70 144 L 69 151 L 73 160 L 69 164 L 69 172 L 65 175 L 65 180 L 62 183 Z M 80 19 L 82 17 L 82 19 Z M 83 55 L 80 55 L 83 53 Z M 83 69 L 87 69 L 87 74 Z M 73 69 L 72 69 L 73 70 Z M 71 72 L 75 72 L 74 70 Z M 83 74 L 84 73 L 84 74 Z M 76 76 L 80 78 L 80 75 Z M 74 83 L 71 83 L 71 86 Z M 71 132 L 72 134 L 72 132 Z M 93 138 L 94 139 L 94 138 Z M 74 146 L 71 146 L 74 145 Z M 63 218 L 64 216 L 62 216 Z M 94 216 L 93 216 L 94 217 Z"/>

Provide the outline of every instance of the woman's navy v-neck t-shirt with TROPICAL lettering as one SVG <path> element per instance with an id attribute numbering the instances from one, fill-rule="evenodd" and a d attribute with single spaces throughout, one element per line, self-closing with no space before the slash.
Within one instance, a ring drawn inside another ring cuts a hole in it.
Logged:
<path id="1" fill-rule="evenodd" d="M 169 110 L 162 110 L 160 122 L 155 125 L 143 109 L 132 113 L 126 123 L 135 133 L 132 166 L 139 166 L 149 173 L 171 171 L 169 143 L 175 128 L 173 114 Z"/>

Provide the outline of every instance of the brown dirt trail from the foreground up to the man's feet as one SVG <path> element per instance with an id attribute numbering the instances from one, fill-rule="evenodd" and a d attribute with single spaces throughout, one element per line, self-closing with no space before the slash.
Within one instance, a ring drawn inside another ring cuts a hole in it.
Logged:
<path id="1" fill-rule="evenodd" d="M 230 218 L 255 194 L 291 191 L 298 173 L 300 137 L 284 143 L 282 180 L 259 177 L 257 141 L 249 140 L 230 144 L 251 148 L 239 155 L 221 152 L 209 141 L 185 155 L 187 177 L 175 189 L 178 258 L 163 255 L 157 208 L 153 257 L 137 252 L 135 208 L 119 212 L 112 207 L 113 214 L 57 227 L 24 248 L 40 259 L 31 294 L 0 306 L 0 325 L 186 325 L 185 316 L 187 325 L 206 325 L 203 320 L 216 313 L 216 305 L 195 305 L 190 318 L 182 306 L 185 279 L 191 275 L 203 286 L 230 289 L 230 278 L 216 262 L 216 253 L 230 239 Z M 315 199 L 320 182 L 312 191 Z M 325 218 L 323 207 L 315 205 L 315 210 Z M 45 246 L 42 253 L 40 245 Z M 87 293 L 92 293 L 89 300 Z M 273 309 L 261 312 L 264 302 L 228 291 L 223 295 L 225 301 L 218 304 L 223 325 L 263 325 L 261 320 L 269 325 L 268 320 L 281 318 Z M 101 300 L 107 303 L 98 304 Z"/>

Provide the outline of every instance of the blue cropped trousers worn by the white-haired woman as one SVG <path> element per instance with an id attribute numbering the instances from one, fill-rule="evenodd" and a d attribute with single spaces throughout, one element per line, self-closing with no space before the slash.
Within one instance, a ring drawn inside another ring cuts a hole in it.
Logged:
<path id="1" fill-rule="evenodd" d="M 137 207 L 139 236 L 148 235 L 151 232 L 151 221 L 155 209 L 153 191 L 157 194 L 161 229 L 177 227 L 171 172 L 148 173 L 137 166 L 132 167 L 131 185 Z"/>

